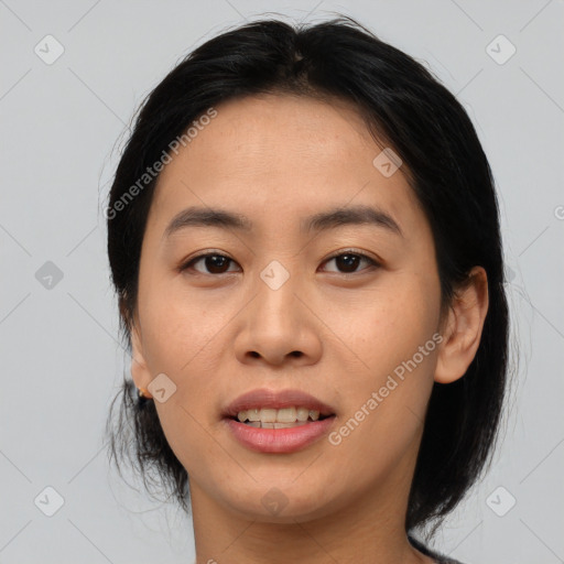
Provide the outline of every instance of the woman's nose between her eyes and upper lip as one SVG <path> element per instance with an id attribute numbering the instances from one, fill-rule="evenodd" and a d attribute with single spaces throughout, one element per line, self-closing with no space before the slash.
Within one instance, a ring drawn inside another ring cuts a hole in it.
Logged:
<path id="1" fill-rule="evenodd" d="M 263 272 L 253 291 L 254 297 L 242 312 L 243 323 L 236 338 L 238 360 L 276 367 L 317 362 L 323 324 L 306 306 L 306 289 L 300 275 L 294 273 L 278 286 Z"/>

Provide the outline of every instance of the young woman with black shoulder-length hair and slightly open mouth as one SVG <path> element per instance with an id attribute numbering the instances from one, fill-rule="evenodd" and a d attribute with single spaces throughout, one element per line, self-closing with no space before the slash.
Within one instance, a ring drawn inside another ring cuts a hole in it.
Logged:
<path id="1" fill-rule="evenodd" d="M 111 455 L 192 508 L 199 564 L 455 562 L 417 539 L 491 455 L 508 308 L 452 94 L 350 19 L 247 24 L 150 94 L 106 216 Z"/>

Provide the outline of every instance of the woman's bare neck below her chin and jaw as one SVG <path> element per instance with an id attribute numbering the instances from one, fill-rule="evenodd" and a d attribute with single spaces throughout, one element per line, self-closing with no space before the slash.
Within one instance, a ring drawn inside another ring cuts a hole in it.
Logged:
<path id="1" fill-rule="evenodd" d="M 370 491 L 359 488 L 346 500 L 333 500 L 323 513 L 294 513 L 283 522 L 227 509 L 191 480 L 197 564 L 431 563 L 405 534 L 412 471 L 392 477 Z"/>

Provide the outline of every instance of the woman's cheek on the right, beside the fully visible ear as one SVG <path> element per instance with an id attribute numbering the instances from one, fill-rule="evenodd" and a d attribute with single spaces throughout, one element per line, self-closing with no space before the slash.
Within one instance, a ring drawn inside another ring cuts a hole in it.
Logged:
<path id="1" fill-rule="evenodd" d="M 356 323 L 347 322 L 358 370 L 343 388 L 346 409 L 332 437 L 337 456 L 361 458 L 359 468 L 371 473 L 397 462 L 419 437 L 441 340 L 435 333 L 440 295 L 432 281 L 398 276 L 372 297 L 366 302 L 370 307 L 356 310 Z"/>

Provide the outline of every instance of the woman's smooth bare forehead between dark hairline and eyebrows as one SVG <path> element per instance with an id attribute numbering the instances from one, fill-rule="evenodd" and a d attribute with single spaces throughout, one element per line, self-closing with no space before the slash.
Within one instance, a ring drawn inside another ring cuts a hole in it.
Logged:
<path id="1" fill-rule="evenodd" d="M 155 214 L 170 218 L 194 205 L 229 207 L 260 223 L 365 204 L 415 219 L 406 217 L 417 206 L 401 169 L 387 177 L 375 166 L 386 145 L 349 104 L 262 95 L 215 109 L 217 116 L 177 155 L 171 153 L 159 177 Z"/>

